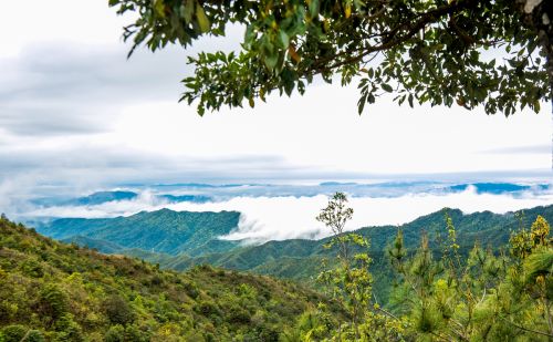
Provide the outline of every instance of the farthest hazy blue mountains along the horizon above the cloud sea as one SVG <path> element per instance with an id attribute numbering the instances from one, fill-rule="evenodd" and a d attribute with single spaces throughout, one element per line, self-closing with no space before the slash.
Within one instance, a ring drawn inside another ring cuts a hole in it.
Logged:
<path id="1" fill-rule="evenodd" d="M 323 182 L 319 185 L 271 185 L 271 184 L 175 184 L 136 187 L 153 191 L 152 199 L 160 203 L 208 203 L 215 199 L 229 199 L 233 196 L 316 196 L 344 191 L 352 196 L 397 197 L 407 193 L 461 193 L 473 188 L 477 194 L 520 195 L 524 191 L 543 191 L 552 188 L 551 184 L 518 184 L 518 183 L 435 183 L 435 182 Z M 41 197 L 31 204 L 41 207 L 53 206 L 95 206 L 111 201 L 136 200 L 140 197 L 137 190 L 103 190 L 81 197 Z"/>

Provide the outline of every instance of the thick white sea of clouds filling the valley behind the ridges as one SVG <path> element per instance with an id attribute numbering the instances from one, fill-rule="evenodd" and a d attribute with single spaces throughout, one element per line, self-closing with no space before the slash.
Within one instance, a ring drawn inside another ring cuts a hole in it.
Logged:
<path id="1" fill-rule="evenodd" d="M 314 196 L 248 196 L 238 195 L 208 203 L 168 203 L 152 190 L 142 190 L 133 200 L 108 201 L 87 206 L 35 207 L 20 214 L 32 218 L 105 218 L 129 216 L 146 210 L 161 208 L 182 211 L 221 211 L 241 213 L 236 230 L 221 237 L 228 240 L 264 242 L 293 238 L 322 238 L 330 230 L 315 217 L 326 206 L 326 195 Z M 517 191 L 515 194 L 479 193 L 473 186 L 462 191 L 419 191 L 399 196 L 349 196 L 349 206 L 354 209 L 352 221 L 346 229 L 353 230 L 366 226 L 401 225 L 428 215 L 444 207 L 458 208 L 466 214 L 490 210 L 498 214 L 553 204 L 551 187 L 536 190 Z"/>

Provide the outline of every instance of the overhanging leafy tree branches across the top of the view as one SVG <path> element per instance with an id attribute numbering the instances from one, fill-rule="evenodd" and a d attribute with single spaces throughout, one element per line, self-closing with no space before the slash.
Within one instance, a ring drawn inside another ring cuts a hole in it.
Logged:
<path id="1" fill-rule="evenodd" d="M 181 101 L 198 113 L 254 106 L 272 91 L 303 94 L 315 76 L 359 80 L 358 111 L 386 93 L 394 100 L 484 105 L 488 114 L 540 111 L 552 99 L 553 4 L 540 0 L 109 0 L 124 28 L 152 51 L 190 46 L 202 35 L 246 28 L 239 53 L 189 58 L 195 74 Z"/>

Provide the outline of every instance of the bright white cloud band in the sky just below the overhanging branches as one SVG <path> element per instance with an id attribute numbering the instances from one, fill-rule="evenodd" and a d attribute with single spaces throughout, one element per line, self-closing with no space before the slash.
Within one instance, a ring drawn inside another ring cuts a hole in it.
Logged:
<path id="1" fill-rule="evenodd" d="M 315 85 L 304 96 L 271 96 L 253 110 L 223 108 L 205 117 L 182 104 L 143 103 L 123 111 L 114 141 L 173 155 L 275 155 L 292 165 L 334 172 L 550 168 L 546 154 L 481 153 L 513 145 L 550 145 L 551 118 L 544 113 L 505 118 L 487 116 L 481 108 L 473 113 L 459 107 L 410 110 L 384 99 L 358 116 L 356 97 L 354 89 Z"/>

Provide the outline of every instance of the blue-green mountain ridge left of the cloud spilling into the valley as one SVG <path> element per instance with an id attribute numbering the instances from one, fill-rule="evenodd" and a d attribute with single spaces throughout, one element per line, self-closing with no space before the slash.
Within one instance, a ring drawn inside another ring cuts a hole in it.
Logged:
<path id="1" fill-rule="evenodd" d="M 236 247 L 237 241 L 218 237 L 238 227 L 238 211 L 142 211 L 116 218 L 62 218 L 38 231 L 51 238 L 73 241 L 104 252 L 122 249 L 142 249 L 167 255 L 223 251 Z"/>

